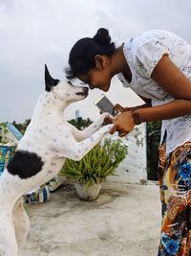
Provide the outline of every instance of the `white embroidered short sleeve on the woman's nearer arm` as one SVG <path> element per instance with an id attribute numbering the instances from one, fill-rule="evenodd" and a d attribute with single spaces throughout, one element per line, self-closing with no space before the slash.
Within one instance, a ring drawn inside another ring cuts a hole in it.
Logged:
<path id="1" fill-rule="evenodd" d="M 168 48 L 157 38 L 139 46 L 135 58 L 138 75 L 142 78 L 150 78 L 159 59 L 168 54 Z"/>

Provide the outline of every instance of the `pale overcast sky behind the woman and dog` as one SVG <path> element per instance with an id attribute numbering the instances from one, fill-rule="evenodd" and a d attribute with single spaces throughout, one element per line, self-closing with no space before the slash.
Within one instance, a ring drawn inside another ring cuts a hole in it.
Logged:
<path id="1" fill-rule="evenodd" d="M 24 122 L 44 90 L 44 64 L 53 78 L 65 80 L 64 68 L 74 42 L 107 28 L 119 46 L 125 39 L 150 29 L 163 29 L 191 42 L 190 0 L 0 0 L 0 123 Z M 95 119 L 93 90 L 86 100 L 70 105 Z M 106 94 L 114 103 L 140 104 L 130 89 L 114 78 Z"/>

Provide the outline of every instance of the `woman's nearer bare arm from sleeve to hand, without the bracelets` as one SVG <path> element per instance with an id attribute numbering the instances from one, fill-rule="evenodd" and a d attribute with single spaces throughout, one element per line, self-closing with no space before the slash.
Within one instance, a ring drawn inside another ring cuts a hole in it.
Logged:
<path id="1" fill-rule="evenodd" d="M 141 122 L 171 119 L 191 114 L 191 81 L 180 72 L 170 58 L 164 55 L 159 60 L 151 78 L 158 82 L 175 100 L 164 105 L 138 108 Z M 113 134 L 117 130 L 124 136 L 134 127 L 135 122 L 131 112 L 123 112 L 114 119 L 114 127 L 110 133 Z"/>

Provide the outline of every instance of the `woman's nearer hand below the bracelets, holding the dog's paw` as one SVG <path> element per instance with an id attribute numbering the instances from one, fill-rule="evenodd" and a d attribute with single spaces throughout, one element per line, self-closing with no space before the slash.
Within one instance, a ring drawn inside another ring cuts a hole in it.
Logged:
<path id="1" fill-rule="evenodd" d="M 114 126 L 110 130 L 110 134 L 118 131 L 118 136 L 123 137 L 127 135 L 136 126 L 131 111 L 125 111 L 117 115 L 113 120 Z"/>

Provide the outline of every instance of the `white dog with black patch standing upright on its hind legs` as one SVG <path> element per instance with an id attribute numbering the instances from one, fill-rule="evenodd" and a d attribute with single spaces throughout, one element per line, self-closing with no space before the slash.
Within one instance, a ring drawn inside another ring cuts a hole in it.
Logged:
<path id="1" fill-rule="evenodd" d="M 87 87 L 53 79 L 46 65 L 45 85 L 32 121 L 0 176 L 0 256 L 21 255 L 26 243 L 30 221 L 23 195 L 57 175 L 66 158 L 80 160 L 111 128 L 102 127 L 108 113 L 84 130 L 64 120 L 66 106 L 85 99 Z"/>

